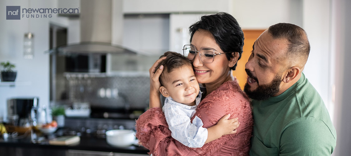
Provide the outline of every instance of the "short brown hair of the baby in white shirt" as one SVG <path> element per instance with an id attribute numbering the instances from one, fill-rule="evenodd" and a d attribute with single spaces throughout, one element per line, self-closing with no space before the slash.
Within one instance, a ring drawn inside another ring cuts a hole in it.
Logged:
<path id="1" fill-rule="evenodd" d="M 161 86 L 164 86 L 163 80 L 164 80 L 165 77 L 164 77 L 163 73 L 165 73 L 165 72 L 170 73 L 174 69 L 177 69 L 177 68 L 185 66 L 185 65 L 188 65 L 188 66 L 192 67 L 191 61 L 188 58 L 186 58 L 185 56 L 183 56 L 182 54 L 180 54 L 180 53 L 167 51 L 162 56 L 160 56 L 160 58 L 161 57 L 165 57 L 165 56 L 167 58 L 162 60 L 158 64 L 158 66 L 156 67 L 156 70 L 159 69 L 159 67 L 161 65 L 163 65 L 163 67 L 164 67 L 164 70 L 163 70 L 163 72 L 162 72 L 162 74 L 160 75 L 160 78 L 159 78 Z"/>

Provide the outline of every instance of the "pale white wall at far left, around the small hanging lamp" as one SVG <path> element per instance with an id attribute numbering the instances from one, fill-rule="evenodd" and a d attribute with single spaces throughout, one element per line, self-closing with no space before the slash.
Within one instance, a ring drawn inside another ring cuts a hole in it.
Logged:
<path id="1" fill-rule="evenodd" d="M 21 8 L 55 8 L 57 1 L 37 0 L 5 0 L 0 1 L 0 12 L 6 12 L 6 6 L 21 6 Z M 29 21 L 30 20 L 30 21 Z M 49 23 L 54 22 L 67 26 L 66 18 L 21 18 L 21 20 L 6 20 L 5 14 L 0 16 L 0 61 L 11 61 L 16 65 L 16 82 L 29 82 L 30 85 L 15 87 L 0 86 L 0 116 L 5 116 L 6 99 L 11 97 L 37 96 L 40 105 L 49 104 L 49 55 L 44 51 L 49 49 Z M 29 23 L 29 25 L 28 25 Z M 23 57 L 23 39 L 26 32 L 34 34 L 34 58 Z"/>

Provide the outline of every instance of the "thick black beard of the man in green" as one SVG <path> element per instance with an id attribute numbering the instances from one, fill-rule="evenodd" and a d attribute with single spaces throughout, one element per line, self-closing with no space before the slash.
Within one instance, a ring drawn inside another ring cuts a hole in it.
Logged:
<path id="1" fill-rule="evenodd" d="M 249 70 L 245 69 L 245 71 L 248 76 L 256 80 L 258 85 L 258 79 L 254 77 Z M 276 77 L 269 84 L 258 85 L 258 87 L 253 91 L 250 91 L 251 86 L 246 83 L 244 86 L 244 91 L 247 94 L 247 96 L 249 96 L 251 99 L 266 100 L 279 92 L 279 85 L 281 82 L 281 77 L 279 76 L 279 74 L 277 74 Z"/>

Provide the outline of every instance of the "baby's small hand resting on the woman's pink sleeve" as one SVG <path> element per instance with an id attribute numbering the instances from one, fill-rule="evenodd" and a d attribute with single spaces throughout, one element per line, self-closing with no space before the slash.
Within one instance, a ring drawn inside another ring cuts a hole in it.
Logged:
<path id="1" fill-rule="evenodd" d="M 237 128 L 240 125 L 238 118 L 228 119 L 230 114 L 223 116 L 217 123 L 219 133 L 223 135 L 234 134 L 237 132 Z"/>

